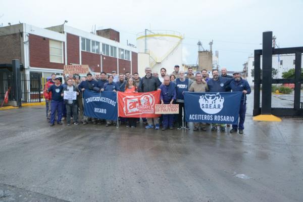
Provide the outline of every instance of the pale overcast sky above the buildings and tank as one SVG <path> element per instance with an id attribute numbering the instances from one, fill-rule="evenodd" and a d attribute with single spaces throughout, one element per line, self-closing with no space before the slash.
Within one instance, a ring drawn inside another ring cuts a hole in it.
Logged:
<path id="1" fill-rule="evenodd" d="M 262 32 L 271 30 L 281 48 L 303 46 L 303 1 L 4 1 L 0 24 L 25 22 L 39 27 L 62 24 L 86 31 L 113 28 L 122 43 L 136 44 L 145 28 L 183 33 L 183 61 L 196 64 L 198 39 L 205 49 L 214 39 L 219 64 L 241 70 L 255 49 L 261 49 Z"/>

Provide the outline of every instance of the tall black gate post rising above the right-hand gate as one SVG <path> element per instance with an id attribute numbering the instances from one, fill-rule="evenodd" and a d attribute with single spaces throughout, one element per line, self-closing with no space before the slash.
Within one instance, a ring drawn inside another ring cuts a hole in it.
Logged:
<path id="1" fill-rule="evenodd" d="M 262 50 L 262 114 L 271 114 L 271 85 L 272 85 L 272 38 L 273 32 L 263 32 Z"/>

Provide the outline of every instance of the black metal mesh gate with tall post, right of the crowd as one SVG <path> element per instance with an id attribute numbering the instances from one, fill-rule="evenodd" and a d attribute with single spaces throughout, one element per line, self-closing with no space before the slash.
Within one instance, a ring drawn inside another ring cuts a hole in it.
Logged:
<path id="1" fill-rule="evenodd" d="M 263 33 L 263 49 L 255 50 L 254 116 L 303 116 L 302 53 L 303 47 L 275 49 L 272 47 L 272 32 Z M 283 61 L 282 57 L 288 61 Z M 288 65 L 283 66 L 283 62 L 288 62 Z M 279 76 L 275 75 L 279 71 L 282 71 Z M 275 88 L 280 86 L 293 88 L 293 91 L 276 93 Z"/>

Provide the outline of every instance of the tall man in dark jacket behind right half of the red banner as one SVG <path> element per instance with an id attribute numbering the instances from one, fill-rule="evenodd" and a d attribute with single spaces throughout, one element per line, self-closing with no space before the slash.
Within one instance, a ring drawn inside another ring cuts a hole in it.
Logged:
<path id="1" fill-rule="evenodd" d="M 157 91 L 159 88 L 158 78 L 151 75 L 151 68 L 145 67 L 145 73 L 146 75 L 141 78 L 140 84 L 139 84 L 139 92 L 140 93 L 146 93 L 151 91 Z M 159 118 L 147 118 L 147 126 L 145 129 L 153 129 L 155 124 L 155 129 L 159 130 Z"/>

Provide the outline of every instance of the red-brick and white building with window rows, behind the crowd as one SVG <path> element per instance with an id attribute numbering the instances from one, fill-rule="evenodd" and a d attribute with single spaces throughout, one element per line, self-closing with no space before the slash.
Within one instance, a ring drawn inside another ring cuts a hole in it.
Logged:
<path id="1" fill-rule="evenodd" d="M 137 50 L 122 45 L 113 29 L 93 34 L 67 25 L 39 28 L 21 23 L 0 27 L 0 45 L 0 64 L 19 59 L 24 73 L 39 72 L 44 78 L 61 74 L 69 64 L 86 64 L 92 73 L 138 71 Z"/>

